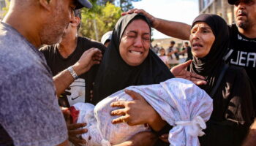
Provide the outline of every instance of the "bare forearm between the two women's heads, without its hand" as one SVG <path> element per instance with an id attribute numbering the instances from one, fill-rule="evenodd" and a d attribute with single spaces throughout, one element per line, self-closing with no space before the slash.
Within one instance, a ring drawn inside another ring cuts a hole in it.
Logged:
<path id="1" fill-rule="evenodd" d="M 168 21 L 159 18 L 155 18 L 154 28 L 157 31 L 162 32 L 170 37 L 176 37 L 178 39 L 189 40 L 190 27 L 186 23 L 180 23 L 175 21 Z"/>

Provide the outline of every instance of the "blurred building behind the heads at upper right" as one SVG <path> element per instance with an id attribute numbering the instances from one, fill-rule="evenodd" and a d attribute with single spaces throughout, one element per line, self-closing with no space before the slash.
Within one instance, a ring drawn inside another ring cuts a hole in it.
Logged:
<path id="1" fill-rule="evenodd" d="M 234 6 L 228 4 L 227 0 L 199 0 L 199 12 L 217 14 L 229 24 L 235 22 Z"/>

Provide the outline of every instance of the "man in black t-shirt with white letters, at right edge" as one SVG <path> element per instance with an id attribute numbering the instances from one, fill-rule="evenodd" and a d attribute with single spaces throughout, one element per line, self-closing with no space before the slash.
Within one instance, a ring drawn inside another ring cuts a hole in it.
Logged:
<path id="1" fill-rule="evenodd" d="M 256 0 L 228 0 L 235 6 L 236 24 L 230 26 L 226 61 L 246 70 L 256 87 Z"/>

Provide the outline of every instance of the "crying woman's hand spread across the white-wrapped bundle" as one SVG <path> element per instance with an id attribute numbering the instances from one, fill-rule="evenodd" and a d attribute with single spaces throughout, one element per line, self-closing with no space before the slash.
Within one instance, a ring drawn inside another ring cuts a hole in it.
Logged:
<path id="1" fill-rule="evenodd" d="M 116 101 L 110 104 L 111 107 L 121 107 L 114 110 L 111 115 L 121 115 L 121 117 L 112 120 L 113 124 L 127 122 L 129 126 L 135 126 L 148 123 L 155 131 L 159 131 L 166 122 L 158 115 L 143 96 L 134 91 L 125 91 L 134 99 L 133 101 Z"/>

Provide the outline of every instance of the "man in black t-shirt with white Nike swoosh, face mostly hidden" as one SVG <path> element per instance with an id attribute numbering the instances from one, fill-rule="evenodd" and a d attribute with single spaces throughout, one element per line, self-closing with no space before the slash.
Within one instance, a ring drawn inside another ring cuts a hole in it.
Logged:
<path id="1" fill-rule="evenodd" d="M 75 23 L 69 23 L 61 42 L 56 45 L 40 48 L 40 51 L 45 55 L 47 64 L 50 67 L 53 76 L 56 76 L 59 72 L 75 64 L 80 59 L 81 55 L 91 47 L 98 48 L 102 53 L 104 52 L 105 46 L 101 43 L 94 42 L 86 37 L 78 37 L 79 27 L 80 10 L 75 10 Z M 90 91 L 92 91 L 93 88 L 96 72 L 97 66 L 94 65 L 88 72 L 78 76 L 78 79 L 69 85 L 70 88 L 67 89 L 65 93 L 57 93 L 60 106 L 69 107 L 77 102 L 90 102 L 92 100 Z M 56 88 L 58 87 L 56 86 Z M 77 137 L 77 134 L 86 133 L 86 129 L 77 129 L 82 128 L 83 126 L 84 125 L 80 123 L 70 124 L 68 126 L 70 142 L 75 145 L 86 143 L 85 140 Z"/>

